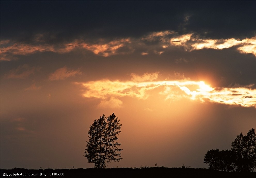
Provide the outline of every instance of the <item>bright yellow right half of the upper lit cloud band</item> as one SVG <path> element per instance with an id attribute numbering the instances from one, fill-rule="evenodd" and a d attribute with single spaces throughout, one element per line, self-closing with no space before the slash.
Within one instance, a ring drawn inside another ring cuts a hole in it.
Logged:
<path id="1" fill-rule="evenodd" d="M 229 38 L 229 39 L 200 39 L 194 37 L 193 33 L 178 35 L 174 31 L 159 31 L 153 32 L 142 41 L 159 41 L 163 49 L 169 46 L 181 46 L 186 51 L 201 50 L 201 49 L 216 49 L 222 50 L 235 46 L 240 53 L 252 53 L 256 56 L 256 36 L 252 38 L 245 38 L 242 40 Z M 154 51 L 156 53 L 156 51 Z M 164 51 L 160 51 L 161 54 Z M 156 53 L 157 54 L 157 53 Z"/>

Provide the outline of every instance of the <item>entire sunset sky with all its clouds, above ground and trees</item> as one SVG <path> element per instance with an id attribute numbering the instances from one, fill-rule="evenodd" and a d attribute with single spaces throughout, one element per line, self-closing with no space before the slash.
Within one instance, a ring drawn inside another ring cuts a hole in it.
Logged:
<path id="1" fill-rule="evenodd" d="M 120 119 L 110 167 L 207 167 L 256 129 L 256 1 L 1 1 L 1 168 L 89 168 L 95 119 Z"/>

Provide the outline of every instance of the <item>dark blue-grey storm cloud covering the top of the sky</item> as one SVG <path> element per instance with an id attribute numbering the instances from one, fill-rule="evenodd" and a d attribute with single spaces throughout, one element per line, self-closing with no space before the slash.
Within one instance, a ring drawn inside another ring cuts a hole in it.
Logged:
<path id="1" fill-rule="evenodd" d="M 196 31 L 212 38 L 255 35 L 255 1 L 1 1 L 1 39 L 49 42 Z M 227 33 L 228 32 L 228 33 Z M 55 38 L 52 38 L 55 36 Z"/>

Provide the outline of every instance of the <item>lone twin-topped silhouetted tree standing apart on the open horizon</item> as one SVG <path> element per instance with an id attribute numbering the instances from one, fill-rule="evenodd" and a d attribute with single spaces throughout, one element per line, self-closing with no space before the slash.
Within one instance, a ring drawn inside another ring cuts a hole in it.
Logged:
<path id="1" fill-rule="evenodd" d="M 121 132 L 122 126 L 119 121 L 114 113 L 107 118 L 103 114 L 90 126 L 84 157 L 88 159 L 88 163 L 93 163 L 95 168 L 105 168 L 106 162 L 109 164 L 111 161 L 122 159 L 122 149 L 118 148 L 121 144 L 117 142 L 117 135 Z"/>

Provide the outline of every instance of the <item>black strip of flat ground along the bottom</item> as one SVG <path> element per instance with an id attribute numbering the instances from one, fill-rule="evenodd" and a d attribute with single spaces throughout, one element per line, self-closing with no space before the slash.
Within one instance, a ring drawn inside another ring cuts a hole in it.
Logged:
<path id="1" fill-rule="evenodd" d="M 58 176 L 58 177 L 196 177 L 196 178 L 210 178 L 210 177 L 256 177 L 256 172 L 222 172 L 222 171 L 211 171 L 209 169 L 202 168 L 166 168 L 166 167 L 145 167 L 145 168 L 109 168 L 109 169 L 23 169 L 23 168 L 13 168 L 13 169 L 0 169 L 1 177 L 4 176 L 3 173 L 33 173 L 38 174 L 37 176 L 27 175 L 25 177 L 44 177 L 44 176 Z M 45 173 L 44 176 L 41 173 Z M 64 176 L 56 175 L 56 173 L 64 173 Z M 10 174 L 8 174 L 10 176 Z M 12 174 L 12 177 L 15 175 Z M 24 177 L 24 175 L 15 176 Z"/>

